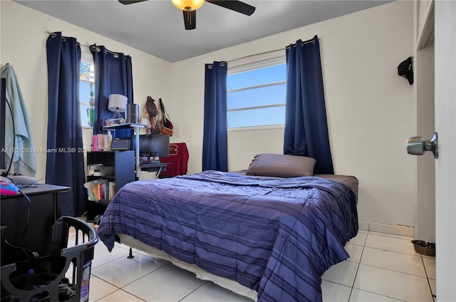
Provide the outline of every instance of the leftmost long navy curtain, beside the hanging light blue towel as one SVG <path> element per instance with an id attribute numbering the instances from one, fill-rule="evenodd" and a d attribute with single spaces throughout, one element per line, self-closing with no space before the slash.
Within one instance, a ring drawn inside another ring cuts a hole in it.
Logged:
<path id="1" fill-rule="evenodd" d="M 46 43 L 48 59 L 48 150 L 46 183 L 71 187 L 59 194 L 61 214 L 86 211 L 84 157 L 79 107 L 81 48 L 76 38 L 52 33 Z"/>

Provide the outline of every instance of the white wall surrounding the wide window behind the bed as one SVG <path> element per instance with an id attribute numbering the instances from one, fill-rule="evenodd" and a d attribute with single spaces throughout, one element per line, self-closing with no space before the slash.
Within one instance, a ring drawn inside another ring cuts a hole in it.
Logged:
<path id="1" fill-rule="evenodd" d="M 273 51 L 318 35 L 337 174 L 360 182 L 358 216 L 415 224 L 416 159 L 405 141 L 416 132 L 413 86 L 398 76 L 413 56 L 413 2 L 395 1 L 174 63 L 170 113 L 175 140 L 187 142 L 189 172 L 202 167 L 204 63 Z M 183 102 L 183 103 L 182 103 Z M 184 107 L 185 110 L 181 108 Z M 259 152 L 283 151 L 283 130 L 229 132 L 229 170 L 247 169 Z"/>

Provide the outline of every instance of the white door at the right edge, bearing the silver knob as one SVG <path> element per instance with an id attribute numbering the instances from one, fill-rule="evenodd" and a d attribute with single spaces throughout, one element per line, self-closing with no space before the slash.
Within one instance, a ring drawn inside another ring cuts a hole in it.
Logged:
<path id="1" fill-rule="evenodd" d="M 437 301 L 456 301 L 456 1 L 435 1 Z"/>

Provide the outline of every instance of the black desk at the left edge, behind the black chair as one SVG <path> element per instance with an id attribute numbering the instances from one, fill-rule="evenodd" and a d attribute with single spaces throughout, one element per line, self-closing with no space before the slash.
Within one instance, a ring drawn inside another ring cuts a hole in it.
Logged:
<path id="1" fill-rule="evenodd" d="M 24 249 L 37 251 L 40 256 L 51 252 L 52 226 L 61 210 L 57 204 L 57 194 L 67 192 L 70 187 L 61 187 L 53 184 L 40 184 L 38 187 L 21 187 L 30 199 L 30 211 L 28 201 L 21 194 L 2 195 L 1 198 L 1 225 L 8 229 L 4 232 L 5 239 L 14 246 L 24 246 Z M 28 224 L 27 221 L 27 214 Z M 27 228 L 27 229 L 26 229 Z M 26 233 L 24 234 L 24 231 Z M 24 238 L 21 238 L 24 234 Z M 1 262 L 8 263 L 11 253 L 5 246 L 1 246 Z M 11 262 L 10 262 L 11 263 Z"/>

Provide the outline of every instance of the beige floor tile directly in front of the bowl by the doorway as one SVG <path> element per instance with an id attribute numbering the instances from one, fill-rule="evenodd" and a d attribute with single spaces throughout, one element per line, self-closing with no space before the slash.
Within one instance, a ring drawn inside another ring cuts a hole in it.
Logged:
<path id="1" fill-rule="evenodd" d="M 373 249 L 366 246 L 363 251 L 363 257 L 361 258 L 361 264 L 426 278 L 425 266 L 420 256 L 384 249 Z"/>

